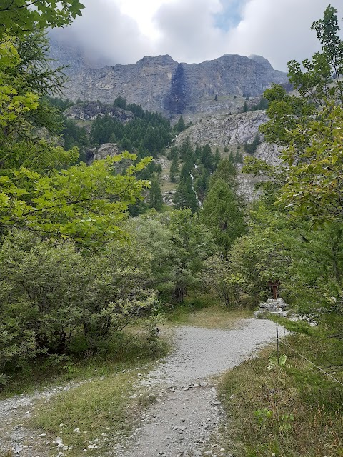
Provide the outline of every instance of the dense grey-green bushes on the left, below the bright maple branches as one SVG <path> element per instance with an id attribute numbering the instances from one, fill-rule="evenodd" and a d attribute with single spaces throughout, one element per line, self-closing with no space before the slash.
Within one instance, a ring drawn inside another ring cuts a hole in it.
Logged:
<path id="1" fill-rule="evenodd" d="M 83 256 L 74 243 L 12 233 L 0 249 L 1 369 L 40 354 L 96 349 L 154 307 L 149 254 L 112 242 Z"/>

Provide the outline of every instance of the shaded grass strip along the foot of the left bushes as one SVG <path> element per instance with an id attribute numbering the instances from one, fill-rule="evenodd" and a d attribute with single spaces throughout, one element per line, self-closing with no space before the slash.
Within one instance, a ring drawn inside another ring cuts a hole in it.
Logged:
<path id="1" fill-rule="evenodd" d="M 168 351 L 169 346 L 163 338 L 154 340 L 140 328 L 128 328 L 125 333 L 114 336 L 100 354 L 89 352 L 79 358 L 67 358 L 55 365 L 37 360 L 26 366 L 11 378 L 11 382 L 0 392 L 0 399 L 63 385 L 69 381 L 108 376 L 123 369 L 142 366 L 165 356 Z"/>

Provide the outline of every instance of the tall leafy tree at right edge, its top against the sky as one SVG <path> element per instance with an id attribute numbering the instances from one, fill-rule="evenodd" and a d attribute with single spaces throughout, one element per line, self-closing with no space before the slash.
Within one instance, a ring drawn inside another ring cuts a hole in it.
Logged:
<path id="1" fill-rule="evenodd" d="M 289 173 L 279 201 L 293 214 L 317 223 L 342 221 L 342 81 L 343 42 L 337 10 L 328 6 L 312 24 L 322 52 L 306 59 L 303 69 L 289 62 L 289 80 L 299 96 L 280 86 L 266 91 L 270 121 L 261 127 L 267 140 L 284 146 Z M 292 189 L 294 186 L 294 191 Z"/>

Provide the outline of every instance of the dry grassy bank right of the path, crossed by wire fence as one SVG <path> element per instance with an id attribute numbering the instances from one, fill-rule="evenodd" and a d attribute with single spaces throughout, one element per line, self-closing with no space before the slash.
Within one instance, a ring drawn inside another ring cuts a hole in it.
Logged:
<path id="1" fill-rule="evenodd" d="M 342 341 L 301 335 L 284 341 L 343 381 Z M 342 386 L 292 351 L 284 353 L 284 367 L 267 371 L 276 356 L 269 347 L 222 378 L 228 450 L 233 442 L 237 457 L 342 457 Z"/>

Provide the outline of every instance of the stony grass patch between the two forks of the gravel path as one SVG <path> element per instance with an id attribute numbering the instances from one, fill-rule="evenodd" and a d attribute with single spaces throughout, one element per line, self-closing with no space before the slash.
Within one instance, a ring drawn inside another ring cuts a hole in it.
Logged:
<path id="1" fill-rule="evenodd" d="M 139 373 L 149 368 L 139 369 Z M 64 446 L 69 446 L 69 457 L 79 457 L 83 449 L 89 456 L 112 451 L 130 433 L 141 409 L 149 404 L 141 401 L 148 396 L 137 395 L 138 380 L 137 371 L 130 370 L 86 382 L 48 403 L 37 403 L 35 416 L 27 425 L 46 433 L 51 443 L 59 436 Z M 56 448 L 56 444 L 53 446 Z"/>

